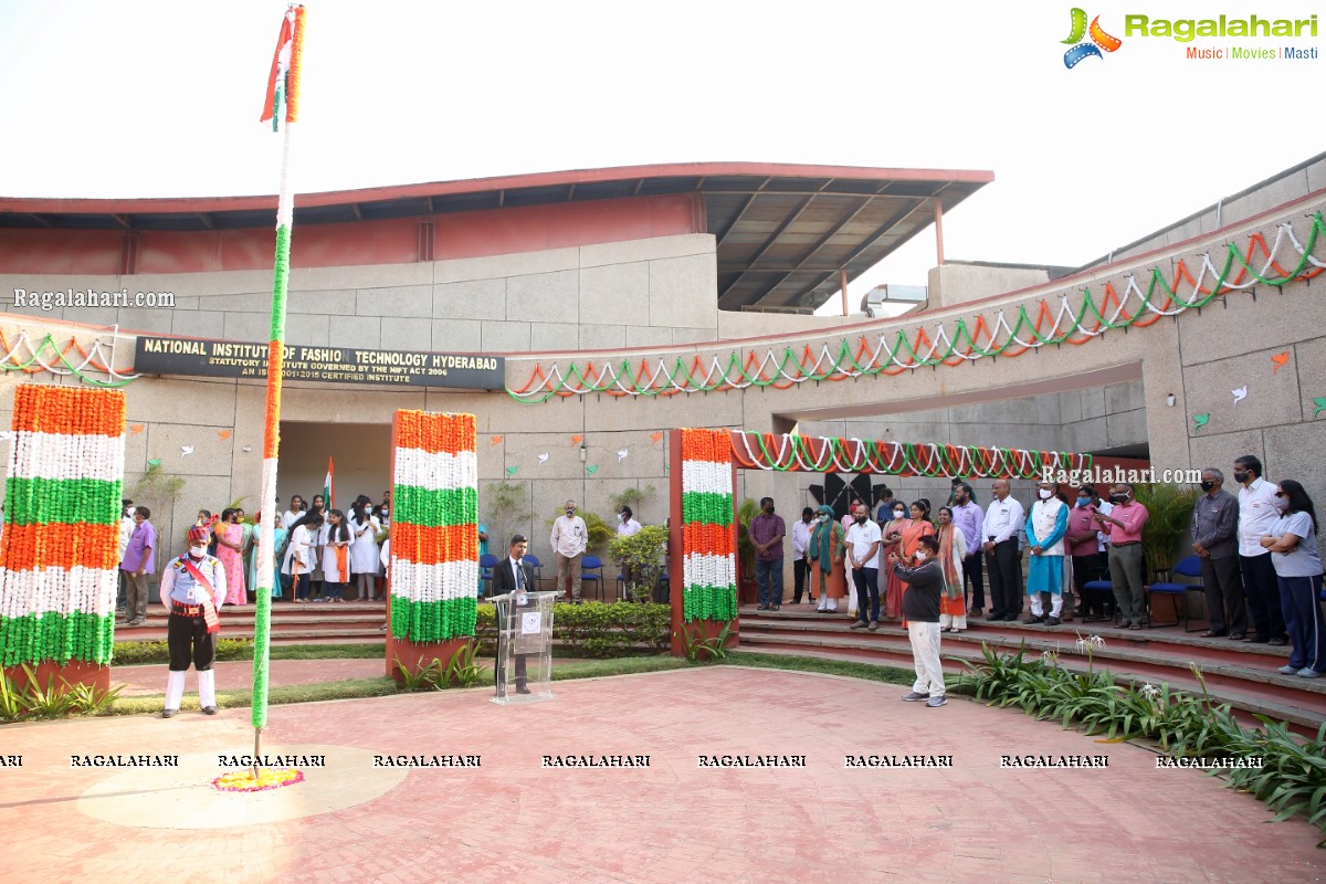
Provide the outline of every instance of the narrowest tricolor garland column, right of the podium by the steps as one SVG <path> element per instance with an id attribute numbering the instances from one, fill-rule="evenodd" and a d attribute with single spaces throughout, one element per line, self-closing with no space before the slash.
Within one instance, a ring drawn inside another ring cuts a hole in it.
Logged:
<path id="1" fill-rule="evenodd" d="M 725 429 L 683 429 L 682 575 L 687 623 L 736 619 L 735 527 L 732 437 Z"/>

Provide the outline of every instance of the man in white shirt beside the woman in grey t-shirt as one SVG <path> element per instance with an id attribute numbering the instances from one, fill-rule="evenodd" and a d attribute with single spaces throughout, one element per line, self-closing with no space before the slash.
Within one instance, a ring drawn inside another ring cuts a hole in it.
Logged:
<path id="1" fill-rule="evenodd" d="M 1254 634 L 1244 641 L 1284 645 L 1289 635 L 1280 610 L 1280 582 L 1270 551 L 1262 547 L 1261 535 L 1280 520 L 1276 509 L 1276 484 L 1261 477 L 1261 460 L 1244 455 L 1235 460 L 1238 489 L 1238 570 L 1244 578 L 1244 596 Z"/>

